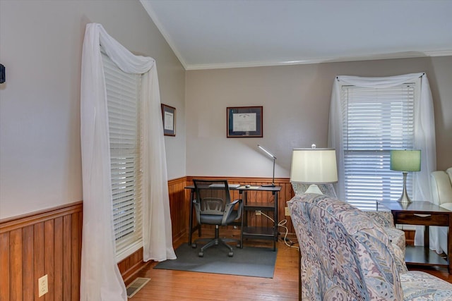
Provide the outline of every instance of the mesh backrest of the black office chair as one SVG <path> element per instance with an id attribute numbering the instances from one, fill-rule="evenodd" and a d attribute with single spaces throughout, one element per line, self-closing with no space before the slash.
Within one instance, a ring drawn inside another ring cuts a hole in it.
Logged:
<path id="1" fill-rule="evenodd" d="M 193 180 L 200 214 L 223 215 L 231 202 L 227 180 Z"/>

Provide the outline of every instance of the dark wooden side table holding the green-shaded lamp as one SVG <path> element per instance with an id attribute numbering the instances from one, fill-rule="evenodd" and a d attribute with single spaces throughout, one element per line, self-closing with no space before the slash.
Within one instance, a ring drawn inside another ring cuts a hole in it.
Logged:
<path id="1" fill-rule="evenodd" d="M 452 274 L 452 211 L 439 207 L 431 202 L 412 202 L 400 204 L 399 202 L 377 202 L 379 206 L 391 210 L 394 223 L 425 226 L 424 246 L 407 246 L 405 262 L 424 266 L 446 266 Z M 381 209 L 381 208 L 380 208 Z M 429 226 L 448 226 L 448 252 L 446 259 L 436 252 L 429 250 Z"/>

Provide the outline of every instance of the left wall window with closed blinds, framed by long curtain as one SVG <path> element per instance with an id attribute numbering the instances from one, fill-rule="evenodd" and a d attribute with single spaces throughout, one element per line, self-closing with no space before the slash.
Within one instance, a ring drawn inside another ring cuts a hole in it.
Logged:
<path id="1" fill-rule="evenodd" d="M 102 63 L 109 117 L 114 238 L 119 261 L 142 245 L 141 75 L 124 73 L 106 54 L 102 54 Z"/>

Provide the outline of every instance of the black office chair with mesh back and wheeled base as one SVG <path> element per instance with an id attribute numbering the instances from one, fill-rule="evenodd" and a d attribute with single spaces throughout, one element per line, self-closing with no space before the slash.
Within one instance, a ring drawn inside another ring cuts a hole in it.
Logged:
<path id="1" fill-rule="evenodd" d="M 196 247 L 197 242 L 207 242 L 201 247 L 199 257 L 204 256 L 204 250 L 213 245 L 224 245 L 230 252 L 227 256 L 234 256 L 232 247 L 227 242 L 236 242 L 240 247 L 240 240 L 232 238 L 220 238 L 219 226 L 227 226 L 242 216 L 242 199 L 231 202 L 229 185 L 227 180 L 193 180 L 196 199 L 193 200 L 196 210 L 196 220 L 202 224 L 215 225 L 215 238 L 200 238 L 191 244 Z M 234 209 L 238 204 L 237 209 Z"/>

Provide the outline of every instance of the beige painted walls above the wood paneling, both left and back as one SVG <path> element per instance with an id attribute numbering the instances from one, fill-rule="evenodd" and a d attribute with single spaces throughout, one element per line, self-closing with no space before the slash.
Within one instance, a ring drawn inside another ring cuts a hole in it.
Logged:
<path id="1" fill-rule="evenodd" d="M 452 56 L 185 72 L 136 0 L 0 0 L 0 219 L 81 200 L 80 66 L 86 23 L 157 61 L 162 103 L 177 108 L 165 137 L 169 179 L 290 172 L 291 149 L 326 147 L 335 75 L 427 72 L 438 168 L 452 166 Z M 263 138 L 226 138 L 227 106 L 263 106 Z M 188 116 L 186 118 L 185 116 Z"/>

